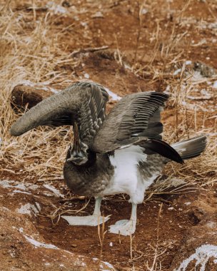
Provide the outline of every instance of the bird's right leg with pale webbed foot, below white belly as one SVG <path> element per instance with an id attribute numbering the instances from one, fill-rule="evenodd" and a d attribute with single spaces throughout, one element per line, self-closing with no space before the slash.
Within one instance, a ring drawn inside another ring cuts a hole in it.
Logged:
<path id="1" fill-rule="evenodd" d="M 120 235 L 132 235 L 136 230 L 136 208 L 137 205 L 132 203 L 130 220 L 117 221 L 115 225 L 110 226 L 109 232 L 117 233 Z"/>

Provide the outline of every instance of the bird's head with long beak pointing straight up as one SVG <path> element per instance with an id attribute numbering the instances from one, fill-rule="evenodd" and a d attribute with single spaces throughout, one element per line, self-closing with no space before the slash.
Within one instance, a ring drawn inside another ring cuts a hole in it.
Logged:
<path id="1" fill-rule="evenodd" d="M 74 123 L 74 143 L 69 148 L 69 155 L 70 157 L 67 158 L 67 161 L 76 165 L 83 165 L 89 159 L 88 146 L 81 142 L 76 122 Z"/>

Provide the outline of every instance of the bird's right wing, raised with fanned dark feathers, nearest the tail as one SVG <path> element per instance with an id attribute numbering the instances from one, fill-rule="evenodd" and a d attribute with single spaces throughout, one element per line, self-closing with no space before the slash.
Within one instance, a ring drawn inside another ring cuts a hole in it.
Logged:
<path id="1" fill-rule="evenodd" d="M 168 95 L 158 92 L 134 93 L 119 101 L 101 126 L 91 145 L 106 153 L 128 145 L 141 145 L 148 154 L 159 153 L 181 163 L 180 155 L 161 140 L 161 111 Z"/>

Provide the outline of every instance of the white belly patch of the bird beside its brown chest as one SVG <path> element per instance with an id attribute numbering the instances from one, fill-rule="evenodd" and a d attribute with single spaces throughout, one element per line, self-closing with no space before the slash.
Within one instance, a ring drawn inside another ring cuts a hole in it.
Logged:
<path id="1" fill-rule="evenodd" d="M 109 156 L 111 165 L 114 167 L 114 175 L 104 195 L 117 193 L 126 193 L 132 195 L 135 193 L 138 178 L 138 162 L 145 161 L 147 155 L 143 153 L 143 148 L 131 145 L 114 151 L 114 155 Z"/>

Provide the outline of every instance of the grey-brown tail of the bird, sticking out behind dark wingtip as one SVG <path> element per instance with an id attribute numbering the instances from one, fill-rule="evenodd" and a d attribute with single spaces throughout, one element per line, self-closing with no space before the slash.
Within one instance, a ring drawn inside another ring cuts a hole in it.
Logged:
<path id="1" fill-rule="evenodd" d="M 200 155 L 206 148 L 206 136 L 183 140 L 171 146 L 179 153 L 182 159 L 193 158 Z"/>

